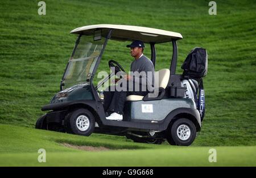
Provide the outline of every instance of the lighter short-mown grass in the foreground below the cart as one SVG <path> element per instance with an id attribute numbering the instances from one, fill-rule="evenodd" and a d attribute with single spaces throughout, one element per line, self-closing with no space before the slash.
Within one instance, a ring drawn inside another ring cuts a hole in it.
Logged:
<path id="1" fill-rule="evenodd" d="M 255 146 L 177 147 L 133 143 L 123 137 L 116 139 L 100 134 L 83 137 L 3 124 L 0 129 L 0 166 L 256 166 Z M 104 146 L 110 150 L 82 151 L 60 143 Z M 46 150 L 46 163 L 38 162 L 38 150 L 42 148 Z M 209 162 L 209 149 L 216 149 L 216 163 Z"/>

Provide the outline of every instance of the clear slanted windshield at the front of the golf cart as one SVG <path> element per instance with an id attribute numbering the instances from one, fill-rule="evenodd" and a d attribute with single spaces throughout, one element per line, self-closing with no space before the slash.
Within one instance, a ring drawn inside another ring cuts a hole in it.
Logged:
<path id="1" fill-rule="evenodd" d="M 97 41 L 94 41 L 93 35 L 80 37 L 61 82 L 63 89 L 75 84 L 89 83 L 104 42 L 104 37 Z"/>

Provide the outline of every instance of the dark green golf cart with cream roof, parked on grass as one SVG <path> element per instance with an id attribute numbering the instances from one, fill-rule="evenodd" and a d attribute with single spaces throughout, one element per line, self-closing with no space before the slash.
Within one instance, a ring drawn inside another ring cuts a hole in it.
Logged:
<path id="1" fill-rule="evenodd" d="M 78 37 L 61 79 L 60 92 L 53 96 L 50 104 L 42 107 L 42 111 L 49 112 L 38 119 L 36 129 L 85 136 L 92 133 L 123 135 L 134 142 L 155 144 L 167 139 L 171 145 L 191 145 L 201 129 L 204 94 L 201 95 L 201 92 L 200 96 L 197 95 L 202 79 L 189 78 L 189 75 L 185 75 L 189 70 L 176 74 L 176 41 L 182 39 L 180 33 L 111 24 L 79 27 L 71 33 Z M 148 95 L 127 96 L 122 121 L 106 120 L 104 99 L 100 97 L 98 88 L 119 71 L 125 72 L 123 67 L 117 61 L 110 60 L 109 67 L 114 67 L 114 71 L 97 86 L 93 84 L 110 40 L 141 40 L 150 45 L 154 66 L 155 44 L 171 43 L 173 48 L 170 67 L 156 71 L 159 95 L 156 98 Z"/>

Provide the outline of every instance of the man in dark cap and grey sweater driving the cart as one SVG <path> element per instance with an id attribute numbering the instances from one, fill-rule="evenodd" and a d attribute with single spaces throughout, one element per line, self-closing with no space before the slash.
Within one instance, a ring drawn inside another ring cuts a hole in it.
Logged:
<path id="1" fill-rule="evenodd" d="M 131 72 L 134 75 L 125 75 L 122 78 L 122 82 L 118 82 L 121 84 L 121 87 L 122 84 L 125 83 L 127 90 L 110 90 L 104 92 L 104 109 L 106 114 L 109 115 L 106 117 L 108 120 L 123 119 L 123 108 L 125 106 L 126 96 L 146 96 L 148 92 L 152 92 L 154 88 L 154 65 L 150 59 L 143 55 L 145 48 L 144 43 L 135 40 L 126 47 L 130 48 L 131 56 L 134 57 L 134 61 L 131 63 Z M 136 74 L 139 74 L 139 76 Z"/>

